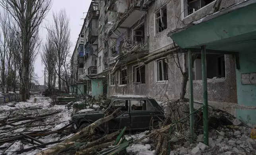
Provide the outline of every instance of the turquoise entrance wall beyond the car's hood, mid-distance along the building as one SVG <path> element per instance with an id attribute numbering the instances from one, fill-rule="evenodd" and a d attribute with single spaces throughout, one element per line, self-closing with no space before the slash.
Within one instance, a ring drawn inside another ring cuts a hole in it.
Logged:
<path id="1" fill-rule="evenodd" d="M 107 87 L 108 85 L 105 84 L 105 79 L 92 79 L 91 80 L 91 96 L 95 97 L 95 99 L 99 99 L 99 96 L 103 95 L 103 88 Z"/>

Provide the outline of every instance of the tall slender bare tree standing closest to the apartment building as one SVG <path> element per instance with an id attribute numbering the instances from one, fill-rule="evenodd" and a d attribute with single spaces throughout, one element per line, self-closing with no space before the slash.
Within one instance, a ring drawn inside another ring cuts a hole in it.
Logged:
<path id="1" fill-rule="evenodd" d="M 53 23 L 47 26 L 47 31 L 57 57 L 58 72 L 56 74 L 58 75 L 58 87 L 61 90 L 61 68 L 71 48 L 69 18 L 64 9 L 53 14 Z"/>

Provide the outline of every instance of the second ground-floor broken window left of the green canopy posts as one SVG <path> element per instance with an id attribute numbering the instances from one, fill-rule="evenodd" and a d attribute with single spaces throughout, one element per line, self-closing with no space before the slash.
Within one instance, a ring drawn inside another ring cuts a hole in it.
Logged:
<path id="1" fill-rule="evenodd" d="M 132 76 L 134 83 L 145 83 L 145 65 L 143 66 L 133 66 L 132 67 Z"/>

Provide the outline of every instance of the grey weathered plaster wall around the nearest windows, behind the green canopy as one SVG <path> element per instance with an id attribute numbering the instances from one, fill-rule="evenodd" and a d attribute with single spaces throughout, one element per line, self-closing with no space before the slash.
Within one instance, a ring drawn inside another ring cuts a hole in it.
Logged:
<path id="1" fill-rule="evenodd" d="M 223 0 L 220 8 L 225 8 L 231 6 L 235 3 L 235 0 Z M 148 9 L 145 18 L 145 35 L 149 36 L 149 53 L 160 52 L 168 49 L 173 41 L 171 38 L 167 37 L 167 33 L 171 30 L 182 26 L 181 24 L 181 1 L 180 0 L 163 0 L 162 3 L 154 3 L 151 8 Z M 155 22 L 154 22 L 154 13 L 161 6 L 167 4 L 167 29 L 163 30 L 159 34 L 155 35 Z M 211 8 L 211 9 L 209 9 Z M 209 5 L 206 8 L 196 12 L 194 15 L 190 15 L 186 17 L 183 22 L 191 23 L 197 19 L 200 19 L 213 10 L 213 5 Z M 148 30 L 147 30 L 148 28 Z M 132 85 L 132 76 L 129 76 L 129 83 L 127 84 L 127 88 L 111 86 L 109 93 L 111 94 L 134 94 L 134 95 L 148 95 L 151 97 L 155 97 L 157 100 L 167 100 L 176 99 L 180 96 L 181 83 L 182 83 L 182 74 L 180 68 L 177 67 L 173 58 L 170 58 L 168 62 L 168 81 L 157 83 L 155 79 L 155 61 L 150 62 L 145 65 L 146 69 L 146 84 L 145 87 L 139 87 L 140 85 Z M 180 56 L 180 64 L 183 68 L 184 57 Z M 131 65 L 127 66 L 129 72 L 131 72 Z M 236 89 L 236 76 L 235 76 L 235 58 L 233 55 L 225 55 L 225 71 L 226 78 L 225 79 L 209 79 L 208 80 L 208 100 L 214 102 L 231 102 L 237 103 L 237 89 Z M 145 91 L 140 91 L 144 90 Z M 188 84 L 187 84 L 187 92 L 186 97 L 188 97 Z M 194 88 L 194 100 L 202 101 L 202 80 L 193 81 Z"/>

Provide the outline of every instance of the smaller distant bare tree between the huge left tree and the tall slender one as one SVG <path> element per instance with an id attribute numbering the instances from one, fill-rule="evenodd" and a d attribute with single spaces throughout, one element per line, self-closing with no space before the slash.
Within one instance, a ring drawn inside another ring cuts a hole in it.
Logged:
<path id="1" fill-rule="evenodd" d="M 52 88 L 52 81 L 54 81 L 55 66 L 56 66 L 56 55 L 54 54 L 53 44 L 49 38 L 44 43 L 42 47 L 42 52 L 40 53 L 42 58 L 42 63 L 45 65 L 46 77 L 47 77 L 47 87 Z"/>

